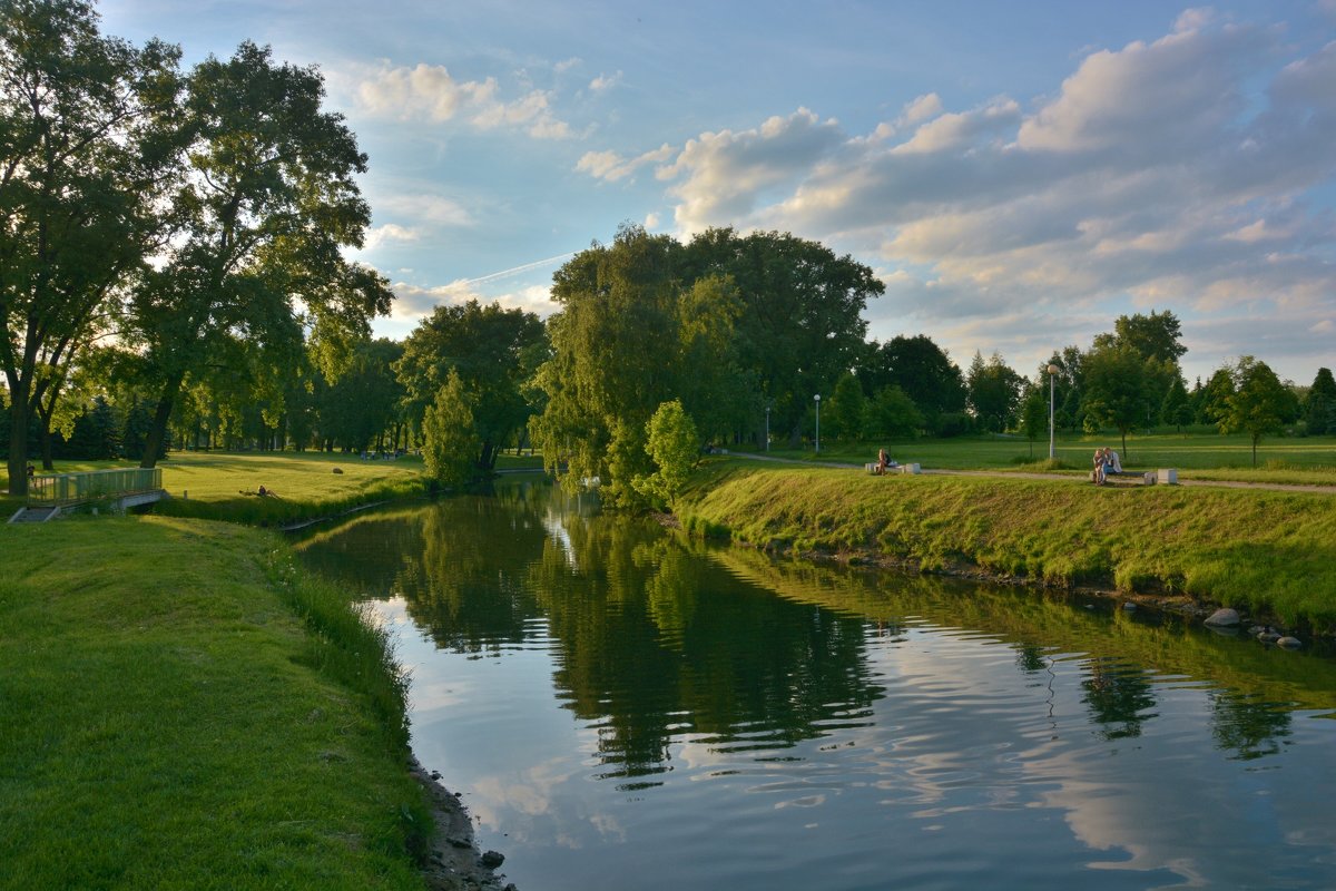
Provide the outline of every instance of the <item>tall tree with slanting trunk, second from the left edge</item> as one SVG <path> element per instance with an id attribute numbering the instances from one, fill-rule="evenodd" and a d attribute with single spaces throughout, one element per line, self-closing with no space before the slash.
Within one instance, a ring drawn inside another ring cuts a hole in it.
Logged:
<path id="1" fill-rule="evenodd" d="M 295 367 L 307 330 L 353 341 L 389 311 L 385 281 L 342 255 L 370 223 L 355 179 L 366 156 L 342 115 L 321 110 L 323 92 L 314 67 L 275 64 L 251 43 L 190 75 L 180 230 L 131 306 L 159 394 L 144 466 L 187 377 L 226 367 L 227 338 Z"/>

